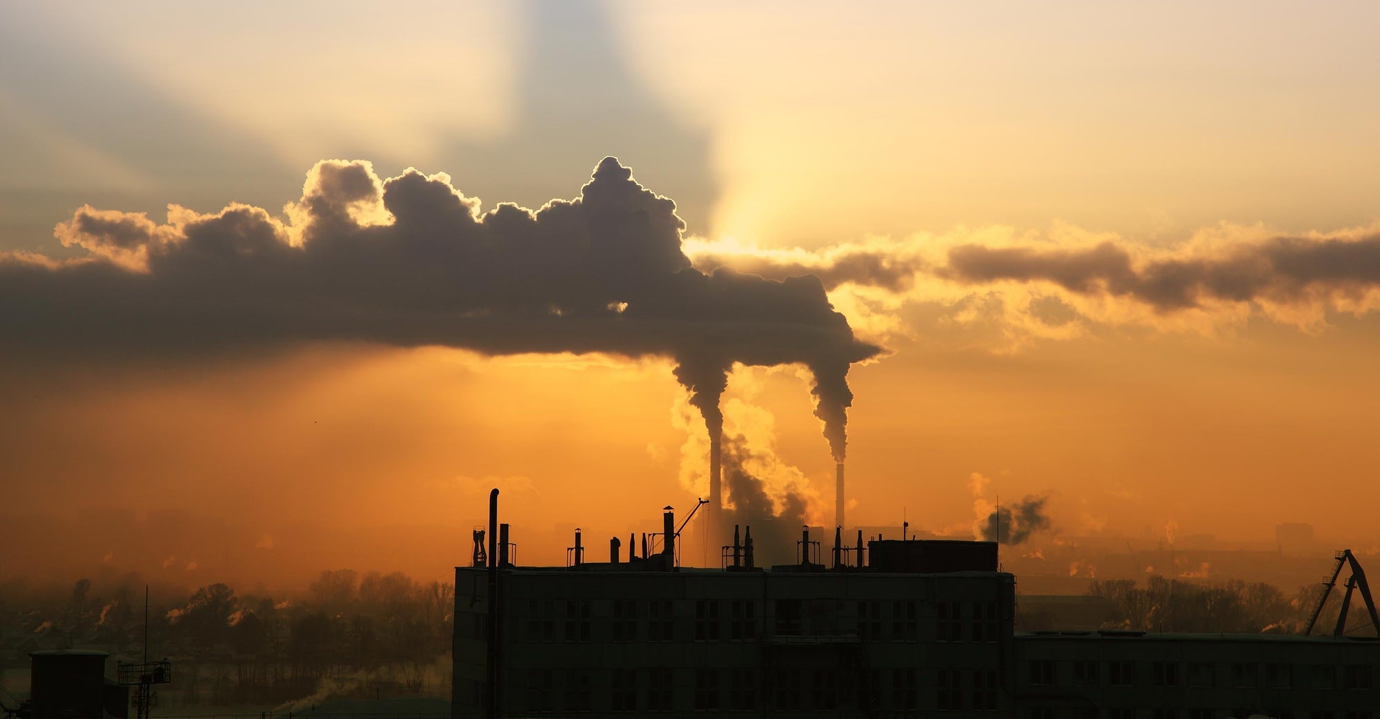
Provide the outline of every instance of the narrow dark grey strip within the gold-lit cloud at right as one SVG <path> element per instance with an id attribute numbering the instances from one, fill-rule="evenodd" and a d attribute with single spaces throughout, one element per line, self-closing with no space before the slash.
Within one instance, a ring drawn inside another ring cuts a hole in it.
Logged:
<path id="1" fill-rule="evenodd" d="M 963 283 L 1043 280 L 1078 294 L 1127 297 L 1161 312 L 1205 299 L 1290 304 L 1380 286 L 1380 235 L 1274 237 L 1212 255 L 1144 262 L 1111 242 L 1078 250 L 965 244 L 949 250 L 937 275 Z"/>

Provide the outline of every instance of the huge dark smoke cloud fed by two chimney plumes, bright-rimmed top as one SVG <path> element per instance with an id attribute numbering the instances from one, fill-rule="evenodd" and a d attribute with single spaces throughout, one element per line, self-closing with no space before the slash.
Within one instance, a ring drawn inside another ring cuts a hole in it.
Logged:
<path id="1" fill-rule="evenodd" d="M 613 157 L 578 199 L 535 213 L 480 213 L 444 177 L 379 182 L 367 163 L 323 161 L 288 213 L 293 225 L 248 206 L 155 225 L 83 208 L 58 235 L 92 257 L 0 255 L 0 351 L 98 363 L 344 339 L 658 355 L 678 362 L 711 431 L 733 363 L 800 363 L 839 458 L 849 364 L 878 352 L 814 276 L 691 268 L 675 203 Z M 138 253 L 144 269 L 105 247 Z"/>

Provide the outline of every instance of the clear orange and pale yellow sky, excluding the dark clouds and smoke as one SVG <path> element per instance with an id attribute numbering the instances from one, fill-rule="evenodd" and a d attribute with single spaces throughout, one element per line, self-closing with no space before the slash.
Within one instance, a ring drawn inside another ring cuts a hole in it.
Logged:
<path id="1" fill-rule="evenodd" d="M 678 201 L 701 261 L 828 266 L 853 247 L 923 268 L 967 244 L 1111 242 L 1145 266 L 1376 236 L 1380 55 L 1361 35 L 1376 6 L 493 6 L 404 22 L 367 6 L 14 3 L 0 253 L 80 257 L 52 228 L 84 203 L 157 222 L 170 203 L 276 214 L 326 157 L 444 171 L 489 210 L 574 197 L 615 155 Z M 850 523 L 904 512 L 962 530 L 980 472 L 1002 497 L 1047 494 L 1063 535 L 1176 523 L 1267 541 L 1310 522 L 1380 540 L 1373 284 L 1169 311 L 926 269 L 829 290 L 887 351 L 849 375 Z M 602 553 L 705 493 L 704 428 L 669 360 L 90 355 L 0 359 L 0 515 L 80 534 L 52 555 L 0 549 L 0 575 L 440 577 L 468 559 L 494 484 L 531 537 L 524 559 L 552 562 L 567 526 Z M 795 482 L 831 522 L 834 462 L 800 371 L 738 368 L 723 406 L 774 458 L 769 484 Z M 128 531 L 142 540 L 106 541 Z"/>

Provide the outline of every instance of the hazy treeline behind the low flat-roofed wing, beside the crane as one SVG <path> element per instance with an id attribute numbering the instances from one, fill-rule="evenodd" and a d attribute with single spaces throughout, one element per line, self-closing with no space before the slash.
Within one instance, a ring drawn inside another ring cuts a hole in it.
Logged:
<path id="1" fill-rule="evenodd" d="M 1337 582 L 1339 585 L 1341 582 Z M 1330 633 L 1340 613 L 1337 587 L 1328 598 L 1314 633 Z M 1108 629 L 1147 632 L 1301 633 L 1322 593 L 1322 585 L 1286 595 L 1264 582 L 1191 582 L 1151 575 L 1144 585 L 1134 580 L 1098 580 L 1089 595 L 1101 599 Z M 1352 598 L 1347 632 L 1370 632 L 1370 618 L 1359 596 Z"/>

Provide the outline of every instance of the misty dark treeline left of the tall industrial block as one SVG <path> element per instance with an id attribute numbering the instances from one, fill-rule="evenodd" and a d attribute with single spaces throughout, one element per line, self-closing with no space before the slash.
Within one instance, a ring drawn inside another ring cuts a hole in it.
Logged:
<path id="1" fill-rule="evenodd" d="M 23 606 L 28 604 L 28 606 Z M 454 588 L 402 573 L 323 571 L 305 595 L 276 599 L 228 584 L 164 595 L 149 611 L 150 658 L 174 662 L 160 687 L 177 704 L 280 704 L 320 696 L 435 690 L 448 658 Z M 117 660 L 144 649 L 144 587 L 109 593 L 77 581 L 65 599 L 6 598 L 0 647 L 101 649 Z"/>

